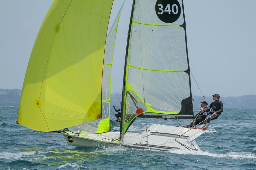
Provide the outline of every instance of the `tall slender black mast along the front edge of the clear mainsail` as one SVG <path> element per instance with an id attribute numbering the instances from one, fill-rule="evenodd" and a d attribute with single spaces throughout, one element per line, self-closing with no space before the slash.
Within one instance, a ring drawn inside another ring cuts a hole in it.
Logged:
<path id="1" fill-rule="evenodd" d="M 124 79 L 123 79 L 123 92 L 122 92 L 122 106 L 121 106 L 121 122 L 120 122 L 120 140 L 122 139 L 122 129 L 123 129 L 123 113 L 124 113 L 124 89 L 125 89 L 125 78 L 126 78 L 126 65 L 127 65 L 127 58 L 128 58 L 128 50 L 129 50 L 129 42 L 130 42 L 130 34 L 131 34 L 131 27 L 132 27 L 132 18 L 133 18 L 133 11 L 134 11 L 134 4 L 135 0 L 132 2 L 132 11 L 131 11 L 131 18 L 129 24 L 129 30 L 127 35 L 127 43 L 126 43 L 126 53 L 125 53 L 125 60 L 124 60 Z"/>

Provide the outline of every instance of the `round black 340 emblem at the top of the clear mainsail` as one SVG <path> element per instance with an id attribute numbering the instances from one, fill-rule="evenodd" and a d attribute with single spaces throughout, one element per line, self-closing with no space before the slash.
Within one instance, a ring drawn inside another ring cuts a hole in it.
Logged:
<path id="1" fill-rule="evenodd" d="M 165 22 L 172 23 L 179 19 L 181 13 L 180 3 L 177 0 L 157 0 L 156 15 Z"/>

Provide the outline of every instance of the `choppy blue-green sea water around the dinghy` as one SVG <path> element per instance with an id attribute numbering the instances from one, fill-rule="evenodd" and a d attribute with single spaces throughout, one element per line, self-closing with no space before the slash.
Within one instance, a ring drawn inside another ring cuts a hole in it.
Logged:
<path id="1" fill-rule="evenodd" d="M 61 134 L 37 132 L 16 124 L 18 109 L 17 104 L 0 105 L 0 169 L 256 169 L 255 109 L 224 108 L 209 127 L 217 133 L 199 144 L 202 151 L 73 147 Z M 113 110 L 111 119 L 115 120 Z M 137 119 L 130 131 L 138 131 L 140 125 L 146 128 L 152 122 L 156 120 L 147 119 L 146 124 L 145 119 Z M 206 136 L 198 137 L 197 143 Z"/>

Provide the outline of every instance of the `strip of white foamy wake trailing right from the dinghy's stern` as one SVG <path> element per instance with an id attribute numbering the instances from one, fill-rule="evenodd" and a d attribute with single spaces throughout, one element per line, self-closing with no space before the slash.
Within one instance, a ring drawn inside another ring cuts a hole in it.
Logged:
<path id="1" fill-rule="evenodd" d="M 245 158 L 245 159 L 255 159 L 256 155 L 251 152 L 228 152 L 224 154 L 209 153 L 208 151 L 185 151 L 185 150 L 171 150 L 171 153 L 182 154 L 182 155 L 202 155 L 216 158 Z"/>

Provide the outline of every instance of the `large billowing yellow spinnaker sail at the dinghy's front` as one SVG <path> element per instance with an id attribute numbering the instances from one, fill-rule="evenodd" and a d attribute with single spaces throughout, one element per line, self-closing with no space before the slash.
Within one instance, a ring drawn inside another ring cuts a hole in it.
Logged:
<path id="1" fill-rule="evenodd" d="M 17 122 L 53 131 L 101 118 L 113 0 L 55 0 L 31 52 Z"/>

